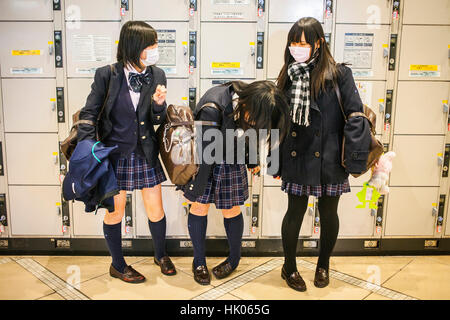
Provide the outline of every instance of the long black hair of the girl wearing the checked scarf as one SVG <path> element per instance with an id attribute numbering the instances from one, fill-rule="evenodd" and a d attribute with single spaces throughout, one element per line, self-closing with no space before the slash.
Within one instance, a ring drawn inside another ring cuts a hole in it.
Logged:
<path id="1" fill-rule="evenodd" d="M 277 86 L 285 91 L 289 89 L 292 84 L 287 71 L 289 65 L 295 62 L 295 60 L 289 51 L 289 46 L 292 42 L 301 42 L 303 33 L 305 34 L 306 42 L 311 45 L 311 56 L 306 63 L 311 60 L 311 57 L 316 50 L 317 41 L 320 43 L 320 47 L 317 48 L 317 61 L 311 72 L 311 95 L 317 98 L 321 90 L 325 91 L 327 79 L 336 83 L 338 69 L 336 61 L 333 59 L 333 56 L 328 49 L 328 45 L 325 43 L 325 34 L 322 25 L 317 19 L 312 17 L 301 18 L 291 27 L 286 41 L 286 48 L 284 50 L 284 65 L 278 75 Z"/>

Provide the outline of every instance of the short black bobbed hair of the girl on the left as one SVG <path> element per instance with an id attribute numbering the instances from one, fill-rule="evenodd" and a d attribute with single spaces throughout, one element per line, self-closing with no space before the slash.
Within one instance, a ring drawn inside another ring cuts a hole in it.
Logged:
<path id="1" fill-rule="evenodd" d="M 145 68 L 141 63 L 141 52 L 158 42 L 155 29 L 144 21 L 128 21 L 120 30 L 117 61 Z"/>

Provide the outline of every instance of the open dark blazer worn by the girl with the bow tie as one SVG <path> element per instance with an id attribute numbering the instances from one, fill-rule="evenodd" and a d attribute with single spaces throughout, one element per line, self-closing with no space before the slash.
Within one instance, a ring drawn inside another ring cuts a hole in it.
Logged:
<path id="1" fill-rule="evenodd" d="M 105 109 L 101 115 L 99 126 L 100 139 L 106 138 L 112 129 L 110 120 L 111 109 L 120 91 L 120 85 L 125 76 L 123 70 L 123 63 L 117 62 L 114 64 L 113 72 L 109 65 L 98 68 L 95 71 L 94 82 L 91 86 L 91 93 L 86 99 L 86 105 L 81 109 L 80 119 L 91 120 L 97 122 L 98 114 L 106 99 L 107 84 L 110 81 L 108 100 L 106 101 Z M 138 121 L 138 139 L 140 139 L 142 150 L 149 165 L 154 167 L 157 163 L 159 147 L 155 135 L 154 125 L 161 124 L 166 118 L 166 106 L 159 106 L 152 100 L 152 95 L 156 90 L 158 84 L 167 87 L 167 79 L 163 70 L 155 66 L 149 66 L 153 73 L 153 81 L 151 84 L 143 84 L 141 95 L 137 106 L 137 121 Z M 110 80 L 108 80 L 110 79 Z M 141 125 L 143 122 L 143 125 Z M 81 124 L 78 128 L 78 141 L 84 139 L 96 139 L 95 128 L 90 125 Z"/>

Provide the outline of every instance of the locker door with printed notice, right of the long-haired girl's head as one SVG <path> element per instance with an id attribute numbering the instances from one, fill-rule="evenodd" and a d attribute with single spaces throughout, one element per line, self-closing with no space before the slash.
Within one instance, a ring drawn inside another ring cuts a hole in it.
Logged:
<path id="1" fill-rule="evenodd" d="M 389 26 L 336 25 L 334 59 L 351 63 L 357 79 L 385 80 Z"/>

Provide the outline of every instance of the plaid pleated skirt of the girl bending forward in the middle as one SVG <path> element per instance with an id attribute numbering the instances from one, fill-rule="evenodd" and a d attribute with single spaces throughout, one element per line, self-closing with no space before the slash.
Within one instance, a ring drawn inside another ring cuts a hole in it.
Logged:
<path id="1" fill-rule="evenodd" d="M 231 209 L 243 205 L 248 195 L 246 166 L 222 163 L 214 167 L 203 195 L 196 199 L 186 198 L 204 204 L 214 203 L 217 209 Z"/>

